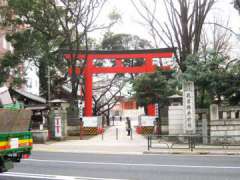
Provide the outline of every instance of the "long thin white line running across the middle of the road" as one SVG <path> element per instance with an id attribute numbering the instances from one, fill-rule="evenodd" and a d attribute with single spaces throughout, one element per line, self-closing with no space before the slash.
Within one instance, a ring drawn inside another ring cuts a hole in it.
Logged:
<path id="1" fill-rule="evenodd" d="M 66 164 L 111 165 L 111 166 L 116 165 L 116 166 L 143 166 L 143 167 L 203 168 L 203 169 L 240 169 L 240 166 L 202 166 L 202 165 L 150 164 L 150 163 L 136 164 L 136 163 L 60 161 L 60 160 L 43 160 L 43 159 L 27 159 L 27 160 L 24 160 L 24 161 L 66 163 Z"/>

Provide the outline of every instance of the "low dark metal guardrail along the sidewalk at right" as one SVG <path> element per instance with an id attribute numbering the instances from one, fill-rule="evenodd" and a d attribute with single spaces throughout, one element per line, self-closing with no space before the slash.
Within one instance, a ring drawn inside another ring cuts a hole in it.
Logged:
<path id="1" fill-rule="evenodd" d="M 147 148 L 158 149 L 238 149 L 240 136 L 149 135 Z"/>

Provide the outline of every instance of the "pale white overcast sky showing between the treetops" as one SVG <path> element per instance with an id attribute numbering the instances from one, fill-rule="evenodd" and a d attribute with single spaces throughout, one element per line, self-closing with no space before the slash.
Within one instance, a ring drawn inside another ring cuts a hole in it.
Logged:
<path id="1" fill-rule="evenodd" d="M 137 0 L 134 0 L 137 2 Z M 150 0 L 145 0 L 150 4 Z M 216 4 L 211 10 L 211 13 L 208 15 L 208 22 L 213 22 L 213 18 L 217 18 L 222 22 L 227 23 L 229 21 L 229 28 L 234 32 L 240 33 L 240 14 L 234 9 L 232 0 L 217 0 Z M 166 19 L 166 14 L 163 6 L 163 0 L 158 0 L 159 3 L 159 12 L 160 18 L 164 21 Z M 138 35 L 141 38 L 152 40 L 149 32 L 144 25 L 141 23 L 144 22 L 143 19 L 139 16 L 134 6 L 131 3 L 131 0 L 108 0 L 99 22 L 106 21 L 108 14 L 112 10 L 116 10 L 121 15 L 121 21 L 116 24 L 111 31 L 115 33 L 128 33 Z M 94 36 L 103 37 L 104 32 L 95 32 Z M 239 53 L 240 43 L 236 40 L 236 36 L 233 35 L 231 39 L 233 43 L 233 51 Z"/>

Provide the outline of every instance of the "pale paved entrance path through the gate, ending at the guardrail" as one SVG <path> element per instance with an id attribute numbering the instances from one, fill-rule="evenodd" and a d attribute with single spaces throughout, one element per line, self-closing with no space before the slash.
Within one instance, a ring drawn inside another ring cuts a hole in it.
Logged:
<path id="1" fill-rule="evenodd" d="M 103 136 L 85 137 L 65 141 L 49 141 L 46 144 L 34 144 L 33 151 L 104 153 L 104 154 L 142 154 L 147 150 L 147 139 L 136 134 L 133 128 L 132 139 L 127 136 L 125 121 L 115 121 L 107 128 Z"/>

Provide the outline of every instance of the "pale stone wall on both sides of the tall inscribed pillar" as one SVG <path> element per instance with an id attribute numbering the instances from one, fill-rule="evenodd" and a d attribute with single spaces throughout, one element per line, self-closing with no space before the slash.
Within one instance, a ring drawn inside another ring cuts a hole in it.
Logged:
<path id="1" fill-rule="evenodd" d="M 169 135 L 184 134 L 183 106 L 169 106 Z M 196 134 L 202 143 L 240 143 L 240 107 L 196 109 Z"/>

